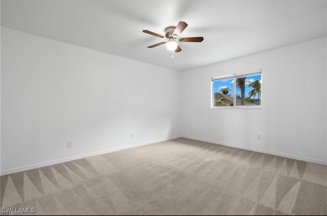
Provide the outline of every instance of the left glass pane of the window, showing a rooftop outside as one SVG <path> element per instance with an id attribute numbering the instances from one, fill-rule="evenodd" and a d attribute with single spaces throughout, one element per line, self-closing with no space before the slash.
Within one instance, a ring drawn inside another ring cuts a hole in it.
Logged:
<path id="1" fill-rule="evenodd" d="M 233 78 L 215 80 L 213 83 L 214 107 L 220 106 L 233 106 L 233 94 L 234 94 Z"/>

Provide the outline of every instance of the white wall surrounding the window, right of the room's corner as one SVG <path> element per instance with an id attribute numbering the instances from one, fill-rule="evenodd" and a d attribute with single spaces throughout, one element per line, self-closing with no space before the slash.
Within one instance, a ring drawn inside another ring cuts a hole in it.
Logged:
<path id="1" fill-rule="evenodd" d="M 181 135 L 327 163 L 326 58 L 320 38 L 183 71 Z M 210 108 L 212 77 L 260 68 L 262 109 Z"/>

